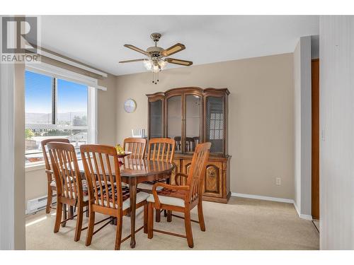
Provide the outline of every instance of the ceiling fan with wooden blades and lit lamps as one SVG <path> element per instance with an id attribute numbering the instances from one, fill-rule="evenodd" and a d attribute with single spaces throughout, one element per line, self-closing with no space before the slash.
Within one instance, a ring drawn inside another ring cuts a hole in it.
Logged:
<path id="1" fill-rule="evenodd" d="M 177 43 L 176 45 L 173 45 L 168 49 L 164 49 L 157 46 L 157 42 L 160 40 L 161 37 L 160 33 L 152 33 L 150 37 L 155 42 L 155 46 L 147 48 L 146 52 L 143 49 L 139 49 L 138 47 L 135 47 L 134 45 L 124 45 L 124 47 L 132 49 L 135 52 L 140 52 L 141 54 L 146 55 L 148 58 L 120 61 L 120 63 L 132 63 L 135 61 L 144 61 L 144 66 L 146 67 L 146 69 L 152 71 L 153 73 L 152 83 L 155 84 L 159 82 L 159 71 L 164 70 L 167 63 L 179 64 L 183 66 L 190 66 L 193 64 L 193 61 L 167 58 L 172 54 L 176 54 L 177 52 L 183 51 L 183 49 L 185 49 L 185 46 L 183 44 Z"/>

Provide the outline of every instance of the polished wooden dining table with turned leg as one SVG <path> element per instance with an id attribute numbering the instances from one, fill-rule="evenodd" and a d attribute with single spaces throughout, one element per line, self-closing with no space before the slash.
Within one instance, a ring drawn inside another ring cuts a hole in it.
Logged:
<path id="1" fill-rule="evenodd" d="M 137 184 L 158 179 L 169 179 L 174 165 L 165 161 L 120 158 L 120 178 L 129 185 L 130 193 L 130 247 L 135 247 L 135 213 L 137 206 Z M 79 170 L 84 173 L 82 160 L 78 161 Z M 113 164 L 112 164 L 113 165 Z M 115 172 L 113 171 L 113 177 Z"/>

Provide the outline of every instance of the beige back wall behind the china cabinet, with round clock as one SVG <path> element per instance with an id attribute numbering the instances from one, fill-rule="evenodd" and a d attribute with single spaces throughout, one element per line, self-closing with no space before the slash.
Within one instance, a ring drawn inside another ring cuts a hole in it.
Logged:
<path id="1" fill-rule="evenodd" d="M 280 54 L 170 69 L 152 84 L 151 73 L 117 77 L 116 141 L 131 129 L 147 129 L 145 94 L 170 88 L 229 88 L 231 191 L 285 199 L 294 197 L 293 56 Z M 137 110 L 127 114 L 124 101 Z M 275 178 L 281 177 L 281 186 Z"/>

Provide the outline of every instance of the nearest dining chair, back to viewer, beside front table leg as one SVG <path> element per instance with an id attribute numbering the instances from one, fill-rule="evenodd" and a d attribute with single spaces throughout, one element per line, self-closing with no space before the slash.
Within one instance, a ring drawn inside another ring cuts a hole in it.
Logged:
<path id="1" fill-rule="evenodd" d="M 130 237 L 122 240 L 122 216 L 130 212 L 130 200 L 129 189 L 122 188 L 117 150 L 113 146 L 86 144 L 80 146 L 80 151 L 89 192 L 89 225 L 86 246 L 91 245 L 93 235 L 111 223 L 111 217 L 113 217 L 117 218 L 115 250 L 118 250 L 120 244 Z M 144 232 L 147 232 L 148 196 L 149 194 L 145 192 L 137 192 L 137 208 L 144 206 Z M 110 220 L 93 232 L 96 213 L 109 216 L 104 220 Z"/>

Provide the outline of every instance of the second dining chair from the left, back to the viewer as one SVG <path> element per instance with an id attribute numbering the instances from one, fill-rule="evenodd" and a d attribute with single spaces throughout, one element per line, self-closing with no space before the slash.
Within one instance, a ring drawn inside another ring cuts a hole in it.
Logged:
<path id="1" fill-rule="evenodd" d="M 80 240 L 84 207 L 88 206 L 88 196 L 84 196 L 84 181 L 81 180 L 75 148 L 70 143 L 49 142 L 47 148 L 50 162 L 55 176 L 57 187 L 57 214 L 55 217 L 54 232 L 58 232 L 60 224 L 76 218 L 74 240 Z M 62 220 L 64 205 L 77 207 L 77 215 Z"/>

